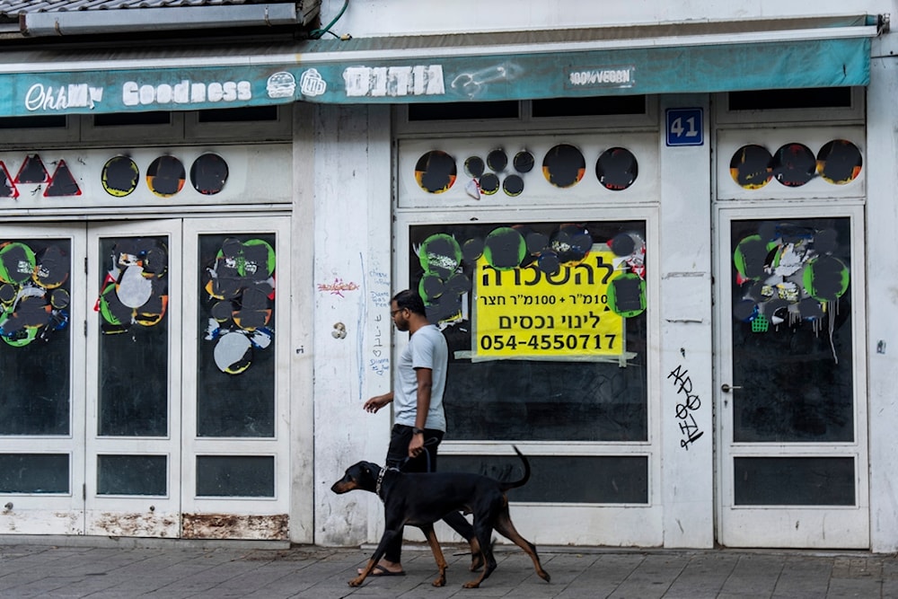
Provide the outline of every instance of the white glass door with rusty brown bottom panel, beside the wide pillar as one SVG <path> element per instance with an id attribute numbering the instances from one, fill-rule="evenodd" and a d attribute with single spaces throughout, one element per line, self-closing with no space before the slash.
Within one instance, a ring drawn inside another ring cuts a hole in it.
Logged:
<path id="1" fill-rule="evenodd" d="M 185 538 L 288 538 L 289 223 L 185 223 Z"/>

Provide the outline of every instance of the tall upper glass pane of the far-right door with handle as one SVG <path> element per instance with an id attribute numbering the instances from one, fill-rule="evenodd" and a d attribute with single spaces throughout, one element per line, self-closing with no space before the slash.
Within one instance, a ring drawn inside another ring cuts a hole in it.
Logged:
<path id="1" fill-rule="evenodd" d="M 854 440 L 849 227 L 732 223 L 735 442 Z"/>

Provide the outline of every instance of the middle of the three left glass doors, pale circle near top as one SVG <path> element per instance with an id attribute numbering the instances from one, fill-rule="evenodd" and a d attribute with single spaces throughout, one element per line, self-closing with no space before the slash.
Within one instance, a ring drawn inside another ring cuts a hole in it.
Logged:
<path id="1" fill-rule="evenodd" d="M 88 534 L 180 534 L 180 226 L 89 228 Z"/>

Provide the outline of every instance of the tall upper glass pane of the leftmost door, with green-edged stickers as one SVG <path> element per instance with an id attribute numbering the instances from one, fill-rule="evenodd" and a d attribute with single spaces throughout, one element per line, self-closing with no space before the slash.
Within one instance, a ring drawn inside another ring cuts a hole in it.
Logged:
<path id="1" fill-rule="evenodd" d="M 0 244 L 0 435 L 69 434 L 71 247 Z"/>

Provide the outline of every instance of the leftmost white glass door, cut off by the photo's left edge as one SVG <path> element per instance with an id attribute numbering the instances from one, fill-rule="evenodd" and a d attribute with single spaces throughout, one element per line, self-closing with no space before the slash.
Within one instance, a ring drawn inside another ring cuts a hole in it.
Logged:
<path id="1" fill-rule="evenodd" d="M 0 533 L 84 534 L 84 243 L 0 226 Z"/>

